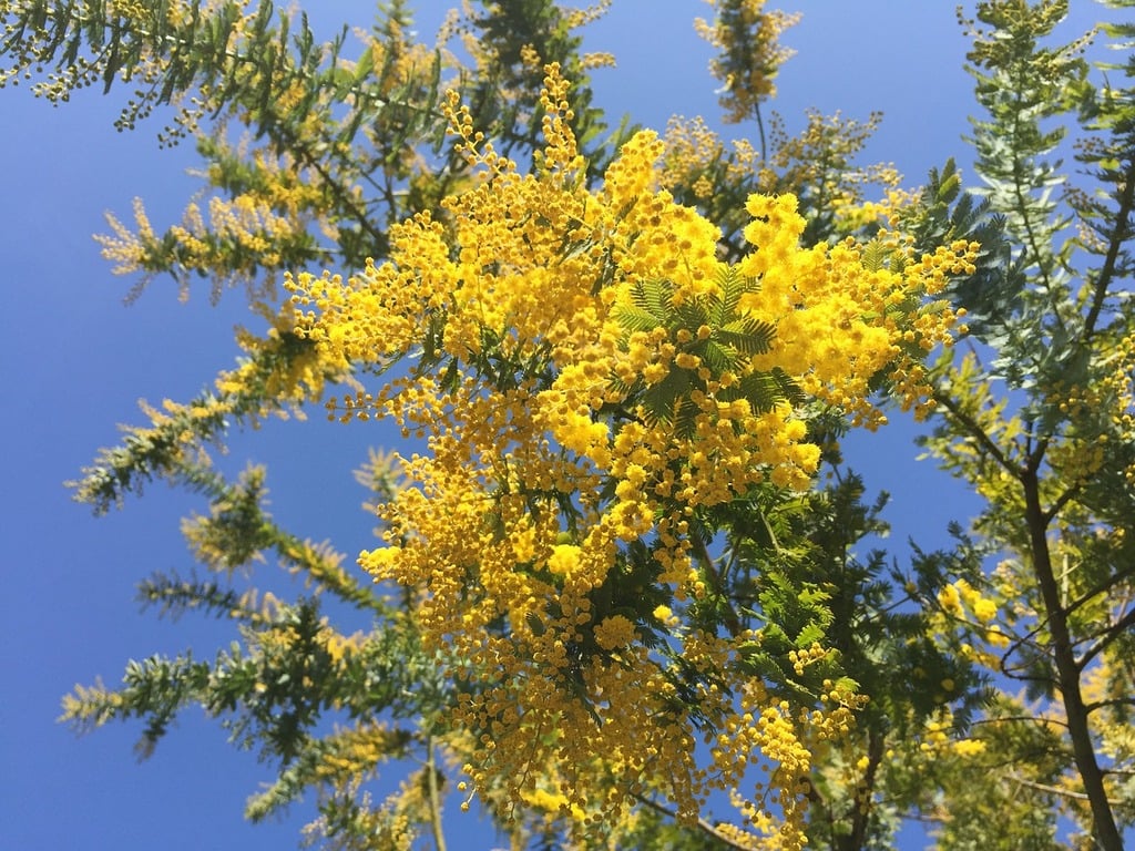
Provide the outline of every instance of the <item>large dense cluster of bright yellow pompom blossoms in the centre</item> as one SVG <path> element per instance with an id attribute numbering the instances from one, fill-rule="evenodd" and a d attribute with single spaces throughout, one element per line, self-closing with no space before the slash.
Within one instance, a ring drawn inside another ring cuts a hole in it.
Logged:
<path id="1" fill-rule="evenodd" d="M 715 226 L 658 188 L 655 134 L 622 149 L 599 191 L 583 186 L 566 91 L 550 66 L 547 144 L 530 175 L 451 98 L 452 132 L 480 182 L 445 202 L 444 219 L 423 213 L 394 228 L 389 262 L 346 280 L 288 283 L 296 332 L 316 343 L 323 369 L 409 359 L 381 387 L 330 403 L 333 418 L 388 416 L 426 440 L 402 458 L 410 487 L 380 509 L 387 546 L 360 564 L 417 589 L 426 647 L 463 660 L 454 673 L 476 688 L 454 721 L 479 734 L 474 787 L 505 778 L 520 804 L 536 789 L 533 767 L 554 762 L 565 808 L 596 811 L 588 797 L 609 795 L 611 817 L 624 795 L 665 777 L 692 818 L 708 789 L 764 753 L 780 767 L 753 812 L 779 814 L 783 846 L 794 848 L 809 742 L 846 731 L 855 698 L 832 689 L 812 708 L 773 701 L 739 672 L 730 640 L 682 631 L 658 607 L 701 681 L 683 696 L 640 640 L 649 613 L 611 610 L 605 595 L 633 545 L 653 547 L 654 581 L 673 598 L 706 593 L 693 513 L 758 483 L 805 489 L 818 462 L 801 410 L 787 399 L 758 408 L 733 390 L 780 370 L 805 394 L 877 422 L 871 379 L 901 365 L 906 343 L 945 339 L 953 321 L 918 307 L 940 263 L 897 273 L 868 269 L 850 243 L 801 247 L 796 200 L 755 195 L 753 252 L 729 268 Z M 729 310 L 742 330 L 680 321 L 709 315 L 726 285 L 741 286 Z M 644 293 L 658 300 L 649 321 Z M 757 327 L 775 334 L 747 352 L 743 329 Z M 705 346 L 726 337 L 737 351 L 715 361 Z M 689 412 L 689 427 L 653 411 L 651 393 Z M 813 656 L 802 651 L 800 664 Z M 696 758 L 691 698 L 699 723 L 732 742 L 718 743 L 712 770 Z M 613 786 L 582 782 L 596 753 Z"/>

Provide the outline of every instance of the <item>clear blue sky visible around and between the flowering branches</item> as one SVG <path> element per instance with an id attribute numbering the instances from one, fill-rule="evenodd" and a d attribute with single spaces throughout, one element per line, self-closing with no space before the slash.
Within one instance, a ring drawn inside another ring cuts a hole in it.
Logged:
<path id="1" fill-rule="evenodd" d="M 419 3 L 423 33 L 448 5 Z M 1094 5 L 1077 0 L 1074 7 L 1071 30 L 1090 25 Z M 965 41 L 953 2 L 810 0 L 787 8 L 804 12 L 785 37 L 799 54 L 785 66 L 774 104 L 790 126 L 799 126 L 808 107 L 859 119 L 882 109 L 883 127 L 865 160 L 893 162 L 910 185 L 949 155 L 968 160 L 960 137 L 972 109 L 970 81 L 961 69 Z M 659 129 L 675 113 L 716 124 L 711 50 L 691 26 L 708 11 L 693 0 L 615 0 L 586 39 L 587 49 L 619 59 L 619 68 L 594 76 L 600 106 Z M 372 10 L 326 2 L 319 18 L 364 26 Z M 114 684 L 128 658 L 154 652 L 192 646 L 208 657 L 230 638 L 227 624 L 158 621 L 133 603 L 144 575 L 191 566 L 178 521 L 201 508 L 195 498 L 157 483 L 124 511 L 95 519 L 62 487 L 99 447 L 116 441 L 116 423 L 138 421 L 138 398 L 188 398 L 232 364 L 233 326 L 255 321 L 239 293 L 211 306 L 202 287 L 180 304 L 176 287 L 162 279 L 123 305 L 133 281 L 114 277 L 91 239 L 104 229 L 103 212 L 128 217 L 138 195 L 163 227 L 179 218 L 197 186 L 185 174 L 195 165 L 192 150 L 158 149 L 160 120 L 116 133 L 124 96 L 87 90 L 52 109 L 23 89 L 0 93 L 0 247 L 8 293 L 0 365 L 12 385 L 0 418 L 9 482 L 0 495 L 7 578 L 0 603 L 0 845 L 294 848 L 310 810 L 247 825 L 244 800 L 271 780 L 271 766 L 229 748 L 200 710 L 186 711 L 143 764 L 132 752 L 135 725 L 77 739 L 56 723 L 60 697 L 76 683 L 102 676 Z M 894 496 L 888 515 L 894 539 L 914 536 L 934 546 L 947 523 L 965 520 L 972 506 L 914 461 L 913 433 L 892 426 L 854 441 L 849 454 L 869 487 Z M 270 423 L 235 436 L 225 463 L 230 470 L 251 460 L 267 463 L 271 509 L 285 528 L 353 554 L 369 546 L 373 524 L 360 509 L 364 495 L 350 470 L 367 446 L 394 443 L 382 426 L 342 427 L 317 414 L 306 423 Z M 490 846 L 489 834 L 470 829 L 474 816 L 453 819 L 464 820 L 451 820 L 451 848 Z"/>

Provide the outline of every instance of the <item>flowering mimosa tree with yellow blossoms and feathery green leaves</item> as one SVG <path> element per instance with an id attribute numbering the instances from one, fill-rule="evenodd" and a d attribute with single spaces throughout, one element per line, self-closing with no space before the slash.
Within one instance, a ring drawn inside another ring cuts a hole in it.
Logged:
<path id="1" fill-rule="evenodd" d="M 3 3 L 0 81 L 127 84 L 120 126 L 159 110 L 207 162 L 207 202 L 162 233 L 138 202 L 108 259 L 183 296 L 243 283 L 267 328 L 75 483 L 100 512 L 154 478 L 202 494 L 207 578 L 142 597 L 238 640 L 132 663 L 65 717 L 140 718 L 149 752 L 199 703 L 278 766 L 250 817 L 318 790 L 335 848 L 444 848 L 460 784 L 514 846 L 886 848 L 917 814 L 941 848 L 1056 848 L 1066 817 L 1118 851 L 1135 31 L 1100 31 L 1128 58 L 1096 81 L 1086 39 L 1051 47 L 1067 2 L 977 5 L 978 200 L 952 163 L 917 192 L 857 163 L 877 117 L 764 115 L 793 18 L 760 0 L 698 23 L 756 142 L 605 136 L 609 57 L 574 34 L 604 6 L 466 5 L 427 48 L 394 2 L 348 60 L 267 1 Z M 359 473 L 358 565 L 268 516 L 262 469 L 210 462 L 312 408 L 406 441 Z M 897 564 L 840 440 L 903 415 L 987 509 Z M 246 585 L 266 555 L 371 627 Z"/>

